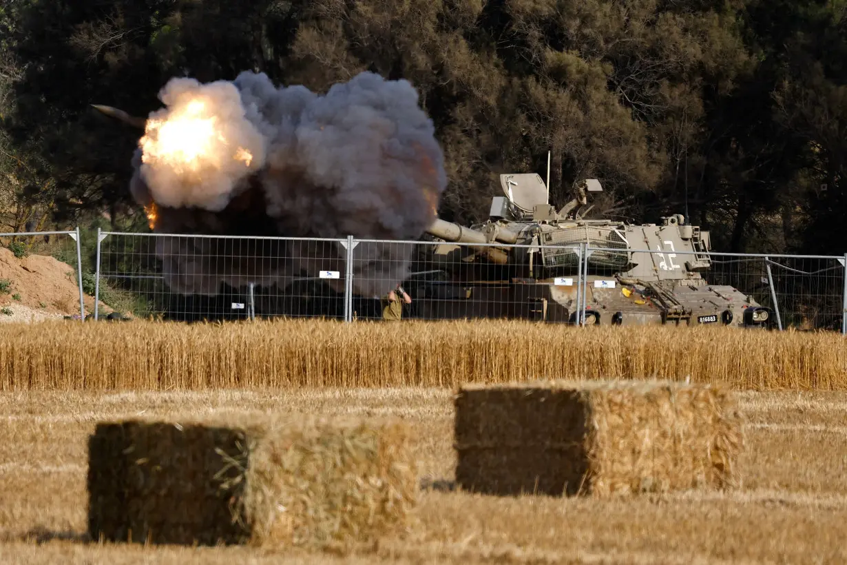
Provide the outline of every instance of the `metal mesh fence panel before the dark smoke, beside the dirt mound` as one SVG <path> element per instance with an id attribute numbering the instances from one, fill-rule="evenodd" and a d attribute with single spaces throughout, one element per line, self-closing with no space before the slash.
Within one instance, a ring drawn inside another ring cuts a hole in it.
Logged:
<path id="1" fill-rule="evenodd" d="M 117 296 L 138 317 L 345 318 L 345 240 L 110 232 L 98 240 L 98 295 Z"/>

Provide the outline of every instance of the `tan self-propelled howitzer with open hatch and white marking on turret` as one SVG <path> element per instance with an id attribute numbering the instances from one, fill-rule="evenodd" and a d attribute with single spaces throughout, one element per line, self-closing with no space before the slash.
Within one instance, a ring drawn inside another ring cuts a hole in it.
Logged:
<path id="1" fill-rule="evenodd" d="M 407 283 L 415 317 L 770 324 L 769 309 L 751 296 L 709 284 L 709 232 L 681 214 L 662 224 L 585 219 L 589 194 L 602 191 L 594 179 L 560 210 L 538 174 L 501 174 L 501 188 L 484 224 L 438 219 L 429 228 L 436 242 L 423 246 Z"/>

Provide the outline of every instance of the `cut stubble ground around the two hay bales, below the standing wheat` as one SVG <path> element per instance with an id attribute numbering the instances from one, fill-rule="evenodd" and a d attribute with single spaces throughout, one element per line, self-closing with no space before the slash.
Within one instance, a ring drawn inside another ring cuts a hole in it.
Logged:
<path id="1" fill-rule="evenodd" d="M 741 485 L 609 500 L 451 490 L 449 389 L 10 392 L 0 396 L 0 560 L 27 563 L 845 562 L 847 393 L 740 392 Z M 284 414 L 401 418 L 424 490 L 418 525 L 375 555 L 86 538 L 87 441 L 101 420 Z"/>

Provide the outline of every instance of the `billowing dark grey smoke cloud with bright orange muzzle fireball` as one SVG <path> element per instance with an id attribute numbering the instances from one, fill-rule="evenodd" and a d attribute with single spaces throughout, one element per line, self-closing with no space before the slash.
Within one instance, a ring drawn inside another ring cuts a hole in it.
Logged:
<path id="1" fill-rule="evenodd" d="M 173 79 L 159 97 L 166 108 L 147 120 L 130 184 L 141 206 L 155 202 L 156 232 L 416 240 L 435 221 L 443 154 L 406 80 L 366 72 L 318 95 L 248 71 L 205 85 Z M 359 243 L 354 291 L 384 295 L 406 278 L 411 252 Z M 344 287 L 346 249 L 335 241 L 174 236 L 158 238 L 157 254 L 184 294 L 322 270 L 340 271 L 328 282 Z"/>

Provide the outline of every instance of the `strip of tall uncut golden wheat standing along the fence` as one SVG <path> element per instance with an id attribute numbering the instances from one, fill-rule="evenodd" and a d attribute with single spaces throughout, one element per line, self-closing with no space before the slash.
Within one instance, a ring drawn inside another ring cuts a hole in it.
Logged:
<path id="1" fill-rule="evenodd" d="M 832 333 L 529 322 L 42 323 L 0 327 L 0 390 L 445 386 L 685 379 L 847 390 Z"/>

